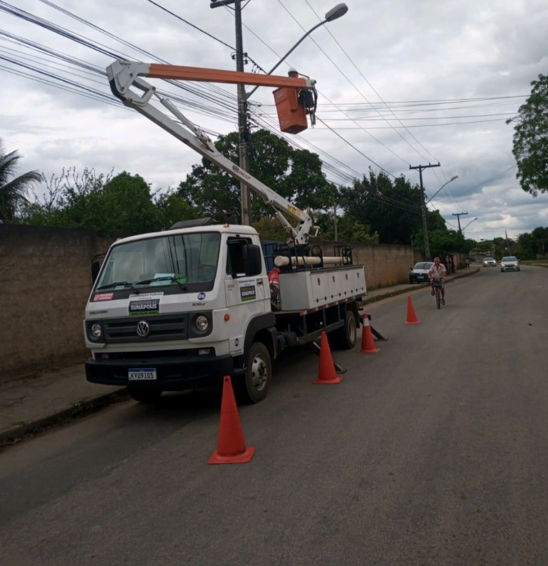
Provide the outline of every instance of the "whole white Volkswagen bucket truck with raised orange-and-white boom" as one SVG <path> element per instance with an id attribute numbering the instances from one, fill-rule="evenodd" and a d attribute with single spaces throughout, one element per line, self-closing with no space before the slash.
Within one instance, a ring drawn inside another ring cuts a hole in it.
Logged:
<path id="1" fill-rule="evenodd" d="M 295 105 L 296 130 L 304 129 L 302 117 L 313 109 L 303 108 L 297 92 L 313 89 L 315 81 L 128 61 L 114 62 L 107 72 L 113 93 L 126 105 L 273 205 L 288 241 L 275 252 L 277 267 L 270 274 L 251 226 L 191 220 L 114 242 L 86 306 L 84 335 L 92 355 L 87 380 L 127 386 L 135 400 L 153 402 L 163 391 L 222 383 L 230 375 L 240 401 L 258 402 L 283 349 L 313 342 L 324 331 L 333 346 L 354 348 L 356 301 L 366 294 L 366 281 L 363 265 L 352 264 L 351 248 L 338 246 L 325 256 L 312 246 L 307 211 L 224 157 L 171 102 L 159 97 L 178 121 L 152 105 L 158 94 L 141 77 L 278 87 L 274 96 L 287 103 L 279 113 L 286 131 L 295 123 Z M 280 211 L 298 224 L 293 227 Z"/>

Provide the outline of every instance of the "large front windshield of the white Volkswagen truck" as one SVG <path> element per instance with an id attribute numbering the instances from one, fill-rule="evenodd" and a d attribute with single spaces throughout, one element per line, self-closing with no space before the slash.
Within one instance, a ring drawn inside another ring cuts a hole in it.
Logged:
<path id="1" fill-rule="evenodd" d="M 114 246 L 96 289 L 208 283 L 215 279 L 220 234 L 166 235 Z M 113 285 L 120 283 L 120 285 Z M 196 285 L 193 285 L 196 288 Z"/>

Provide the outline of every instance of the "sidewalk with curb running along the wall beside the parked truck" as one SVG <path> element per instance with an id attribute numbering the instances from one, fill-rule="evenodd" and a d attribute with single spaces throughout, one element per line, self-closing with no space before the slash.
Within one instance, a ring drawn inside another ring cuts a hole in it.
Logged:
<path id="1" fill-rule="evenodd" d="M 479 268 L 474 265 L 449 275 L 448 280 L 478 271 Z M 402 284 L 368 291 L 363 304 L 416 291 L 427 285 Z M 0 447 L 127 398 L 125 388 L 88 383 L 83 363 L 46 372 L 36 378 L 0 384 Z"/>

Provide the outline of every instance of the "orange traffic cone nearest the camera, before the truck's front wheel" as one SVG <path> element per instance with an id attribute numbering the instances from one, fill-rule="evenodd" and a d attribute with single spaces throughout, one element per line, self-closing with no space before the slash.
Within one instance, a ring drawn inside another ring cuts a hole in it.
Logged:
<path id="1" fill-rule="evenodd" d="M 246 448 L 244 432 L 241 430 L 240 417 L 236 407 L 232 381 L 225 376 L 223 400 L 220 406 L 219 440 L 216 451 L 211 454 L 207 464 L 244 464 L 249 462 L 255 452 Z"/>

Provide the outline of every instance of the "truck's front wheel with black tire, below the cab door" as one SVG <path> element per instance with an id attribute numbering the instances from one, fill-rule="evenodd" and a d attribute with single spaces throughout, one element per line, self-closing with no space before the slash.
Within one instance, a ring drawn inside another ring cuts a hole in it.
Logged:
<path id="1" fill-rule="evenodd" d="M 272 381 L 270 351 L 262 342 L 255 342 L 249 349 L 245 374 L 234 378 L 237 401 L 252 405 L 264 400 Z"/>

